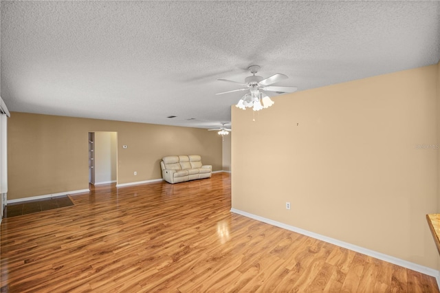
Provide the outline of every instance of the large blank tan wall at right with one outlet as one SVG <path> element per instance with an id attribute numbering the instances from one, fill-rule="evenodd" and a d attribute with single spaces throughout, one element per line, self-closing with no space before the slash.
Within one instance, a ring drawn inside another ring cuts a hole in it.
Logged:
<path id="1" fill-rule="evenodd" d="M 432 65 L 278 96 L 255 122 L 232 107 L 232 208 L 437 268 L 438 83 Z"/>

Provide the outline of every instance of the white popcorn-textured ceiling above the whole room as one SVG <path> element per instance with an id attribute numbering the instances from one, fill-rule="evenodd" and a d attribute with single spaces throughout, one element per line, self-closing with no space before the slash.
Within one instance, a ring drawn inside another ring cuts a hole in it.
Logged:
<path id="1" fill-rule="evenodd" d="M 1 1 L 10 111 L 211 128 L 250 65 L 303 91 L 439 58 L 439 1 Z"/>

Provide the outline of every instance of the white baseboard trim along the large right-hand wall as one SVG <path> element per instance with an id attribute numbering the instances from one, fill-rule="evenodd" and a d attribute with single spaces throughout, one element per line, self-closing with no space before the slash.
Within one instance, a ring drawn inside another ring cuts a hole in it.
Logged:
<path id="1" fill-rule="evenodd" d="M 265 217 L 253 215 L 251 213 L 244 212 L 243 210 L 237 210 L 235 208 L 231 208 L 231 212 L 248 217 L 248 218 L 251 218 L 251 219 L 255 219 L 257 221 L 262 221 L 263 223 L 266 223 L 266 224 L 270 224 L 270 225 L 277 226 L 277 227 L 280 227 L 280 228 L 283 228 L 286 230 L 297 232 L 299 234 L 306 235 L 306 236 L 314 238 L 314 239 L 325 241 L 325 242 L 334 244 L 336 246 L 340 246 L 342 248 L 347 248 L 347 249 L 353 250 L 355 252 L 366 254 L 366 255 L 369 255 L 370 257 L 375 257 L 376 259 L 380 259 L 382 261 L 387 261 L 388 263 L 400 265 L 401 267 L 408 268 L 410 270 L 415 270 L 417 272 L 421 272 L 422 274 L 427 274 L 428 276 L 434 276 L 437 279 L 437 284 L 440 287 L 440 271 L 439 270 L 434 270 L 432 268 L 428 268 L 426 266 L 419 265 L 417 263 L 411 263 L 410 261 L 405 261 L 404 259 L 397 259 L 397 257 L 391 257 L 391 255 L 383 254 L 381 252 L 377 252 L 374 250 L 369 250 L 367 248 L 363 248 L 360 246 L 355 246 L 351 243 L 340 241 L 338 239 L 333 239 L 331 237 L 320 235 L 315 232 L 310 232 L 307 230 L 303 230 L 301 228 L 289 226 L 289 225 L 281 223 L 279 221 L 274 221 L 272 219 L 267 219 Z"/>

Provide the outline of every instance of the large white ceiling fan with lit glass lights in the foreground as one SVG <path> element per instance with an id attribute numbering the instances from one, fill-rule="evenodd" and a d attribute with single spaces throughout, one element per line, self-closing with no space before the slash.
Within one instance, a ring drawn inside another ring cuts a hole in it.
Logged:
<path id="1" fill-rule="evenodd" d="M 269 96 L 273 96 L 273 93 L 276 94 L 285 94 L 285 93 L 293 93 L 296 91 L 296 87 L 282 87 L 282 86 L 274 86 L 272 84 L 278 83 L 281 80 L 285 80 L 288 77 L 285 74 L 274 74 L 273 76 L 270 76 L 268 78 L 263 78 L 262 76 L 255 75 L 257 72 L 259 72 L 259 65 L 252 65 L 248 67 L 250 73 L 252 76 L 248 76 L 245 78 L 244 83 L 239 83 L 234 80 L 228 80 L 219 78 L 218 80 L 221 81 L 227 81 L 228 83 L 238 83 L 241 85 L 241 89 L 233 89 L 232 91 L 223 91 L 221 93 L 218 93 L 217 95 L 221 94 L 228 94 L 232 93 L 234 91 L 247 91 L 249 90 L 249 93 L 245 94 L 239 102 L 236 104 L 236 107 L 239 107 L 240 109 L 245 110 L 246 107 L 252 107 L 254 111 L 259 111 L 263 108 L 270 107 L 274 105 L 274 101 L 272 101 Z M 263 103 L 263 105 L 261 104 Z"/>

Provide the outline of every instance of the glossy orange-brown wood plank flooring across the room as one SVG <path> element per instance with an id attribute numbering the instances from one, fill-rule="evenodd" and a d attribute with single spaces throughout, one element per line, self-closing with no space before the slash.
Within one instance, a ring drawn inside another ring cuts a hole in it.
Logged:
<path id="1" fill-rule="evenodd" d="M 97 186 L 3 219 L 1 292 L 439 292 L 435 279 L 230 213 L 230 174 Z"/>

